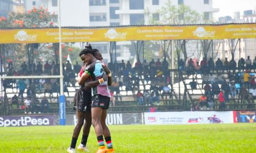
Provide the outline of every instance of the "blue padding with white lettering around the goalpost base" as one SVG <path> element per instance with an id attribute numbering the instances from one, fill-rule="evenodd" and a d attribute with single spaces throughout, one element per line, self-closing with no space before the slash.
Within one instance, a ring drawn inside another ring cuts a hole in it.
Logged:
<path id="1" fill-rule="evenodd" d="M 66 125 L 66 108 L 65 108 L 65 101 L 66 98 L 64 95 L 59 96 L 59 117 L 60 117 L 60 125 Z"/>

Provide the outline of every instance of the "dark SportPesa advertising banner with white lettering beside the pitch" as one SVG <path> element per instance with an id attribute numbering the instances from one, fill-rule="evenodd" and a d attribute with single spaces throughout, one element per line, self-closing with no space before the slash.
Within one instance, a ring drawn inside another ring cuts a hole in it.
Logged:
<path id="1" fill-rule="evenodd" d="M 33 125 L 55 125 L 54 115 L 35 116 L 3 116 L 0 117 L 1 126 L 33 126 Z"/>

